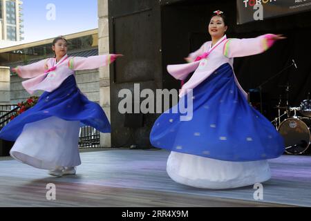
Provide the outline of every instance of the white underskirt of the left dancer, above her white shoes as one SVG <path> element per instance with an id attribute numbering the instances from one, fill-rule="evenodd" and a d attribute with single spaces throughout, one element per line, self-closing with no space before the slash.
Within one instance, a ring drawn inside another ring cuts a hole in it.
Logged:
<path id="1" fill-rule="evenodd" d="M 78 148 L 79 122 L 48 117 L 26 124 L 10 155 L 39 169 L 81 164 Z"/>

